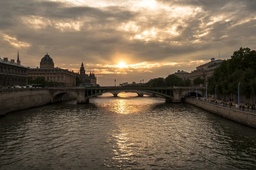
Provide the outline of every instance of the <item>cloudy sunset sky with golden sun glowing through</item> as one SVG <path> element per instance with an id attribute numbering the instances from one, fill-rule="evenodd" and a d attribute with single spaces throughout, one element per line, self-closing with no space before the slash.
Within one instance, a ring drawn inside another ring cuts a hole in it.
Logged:
<path id="1" fill-rule="evenodd" d="M 0 56 L 147 82 L 256 49 L 256 0 L 0 0 Z"/>

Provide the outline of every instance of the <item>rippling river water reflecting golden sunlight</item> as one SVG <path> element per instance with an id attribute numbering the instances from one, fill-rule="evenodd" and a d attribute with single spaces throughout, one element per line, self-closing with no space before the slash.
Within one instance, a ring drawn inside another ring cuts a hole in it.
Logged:
<path id="1" fill-rule="evenodd" d="M 0 118 L 1 170 L 255 170 L 256 129 L 188 104 L 104 94 Z"/>

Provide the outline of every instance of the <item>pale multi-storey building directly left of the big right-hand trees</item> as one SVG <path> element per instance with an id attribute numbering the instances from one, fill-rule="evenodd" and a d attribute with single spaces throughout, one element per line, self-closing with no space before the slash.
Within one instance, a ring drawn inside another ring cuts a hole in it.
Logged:
<path id="1" fill-rule="evenodd" d="M 205 82 L 207 82 L 207 78 L 212 76 L 214 68 L 218 67 L 222 61 L 222 59 L 215 60 L 215 58 L 211 58 L 210 62 L 196 67 L 196 70 L 189 73 L 189 79 L 191 81 L 191 84 L 194 84 L 194 79 L 197 77 L 200 77 L 201 79 L 204 79 Z M 200 86 L 204 87 L 205 85 L 203 84 Z"/>

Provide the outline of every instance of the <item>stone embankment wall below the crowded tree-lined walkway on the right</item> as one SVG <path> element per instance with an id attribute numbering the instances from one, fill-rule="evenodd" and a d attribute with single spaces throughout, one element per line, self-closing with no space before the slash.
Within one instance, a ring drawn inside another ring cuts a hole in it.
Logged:
<path id="1" fill-rule="evenodd" d="M 235 122 L 256 128 L 256 114 L 249 113 L 245 111 L 238 111 L 230 108 L 224 108 L 217 105 L 212 105 L 206 102 L 201 102 L 195 99 L 184 99 L 185 103 L 197 106 L 198 108 L 204 109 L 211 113 L 217 114 L 219 116 L 231 119 Z"/>

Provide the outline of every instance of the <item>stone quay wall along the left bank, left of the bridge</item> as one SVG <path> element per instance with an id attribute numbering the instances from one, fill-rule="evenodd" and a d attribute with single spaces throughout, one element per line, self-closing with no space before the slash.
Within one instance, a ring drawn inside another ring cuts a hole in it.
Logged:
<path id="1" fill-rule="evenodd" d="M 9 112 L 38 107 L 51 103 L 48 89 L 7 88 L 0 89 L 0 116 Z"/>

